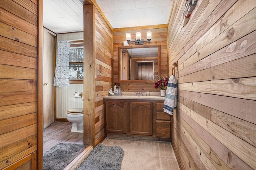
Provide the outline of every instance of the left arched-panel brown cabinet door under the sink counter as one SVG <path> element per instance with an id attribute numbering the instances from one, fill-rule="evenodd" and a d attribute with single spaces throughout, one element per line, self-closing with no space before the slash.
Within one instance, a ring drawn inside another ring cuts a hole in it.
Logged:
<path id="1" fill-rule="evenodd" d="M 106 102 L 106 132 L 127 133 L 127 102 Z"/>

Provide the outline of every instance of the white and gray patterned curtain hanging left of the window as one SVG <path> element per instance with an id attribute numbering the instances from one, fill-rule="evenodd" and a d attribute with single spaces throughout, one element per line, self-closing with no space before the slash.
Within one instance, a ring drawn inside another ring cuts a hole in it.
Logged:
<path id="1" fill-rule="evenodd" d="M 59 41 L 55 67 L 54 86 L 69 86 L 69 47 L 70 41 Z"/>

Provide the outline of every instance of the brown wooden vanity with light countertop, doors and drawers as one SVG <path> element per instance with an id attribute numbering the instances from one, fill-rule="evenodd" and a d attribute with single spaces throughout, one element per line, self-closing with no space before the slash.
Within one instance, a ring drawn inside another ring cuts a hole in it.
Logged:
<path id="1" fill-rule="evenodd" d="M 170 141 L 172 115 L 163 111 L 164 97 L 106 96 L 104 105 L 108 137 Z"/>

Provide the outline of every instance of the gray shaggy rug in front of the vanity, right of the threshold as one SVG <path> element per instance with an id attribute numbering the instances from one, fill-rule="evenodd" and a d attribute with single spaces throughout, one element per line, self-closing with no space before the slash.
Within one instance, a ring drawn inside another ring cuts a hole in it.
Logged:
<path id="1" fill-rule="evenodd" d="M 76 170 L 120 170 L 123 157 L 121 147 L 99 144 Z"/>

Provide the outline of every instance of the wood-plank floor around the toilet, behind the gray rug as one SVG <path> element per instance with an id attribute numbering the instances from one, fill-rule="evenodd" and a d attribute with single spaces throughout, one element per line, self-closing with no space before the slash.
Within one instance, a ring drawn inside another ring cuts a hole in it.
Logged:
<path id="1" fill-rule="evenodd" d="M 84 133 L 71 132 L 72 123 L 55 121 L 43 131 L 43 152 L 57 143 L 84 143 Z"/>

